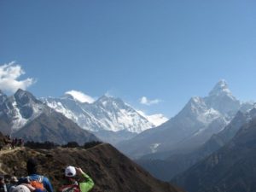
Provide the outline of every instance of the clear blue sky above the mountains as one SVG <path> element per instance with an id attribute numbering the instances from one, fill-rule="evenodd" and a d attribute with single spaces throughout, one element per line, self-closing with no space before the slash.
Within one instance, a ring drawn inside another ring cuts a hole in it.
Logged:
<path id="1" fill-rule="evenodd" d="M 27 80 L 35 96 L 108 93 L 167 117 L 220 79 L 256 101 L 255 9 L 254 0 L 2 0 L 0 65 L 15 61 L 25 73 L 14 71 L 15 86 Z"/>

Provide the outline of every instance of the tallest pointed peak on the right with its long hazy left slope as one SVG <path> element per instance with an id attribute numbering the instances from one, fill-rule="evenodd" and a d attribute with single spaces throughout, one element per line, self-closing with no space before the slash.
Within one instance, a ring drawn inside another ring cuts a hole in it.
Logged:
<path id="1" fill-rule="evenodd" d="M 247 108 L 252 108 L 252 104 L 239 102 L 221 80 L 209 96 L 192 97 L 175 117 L 120 143 L 118 148 L 133 158 L 161 151 L 183 153 L 201 146 L 223 130 L 239 109 Z"/>

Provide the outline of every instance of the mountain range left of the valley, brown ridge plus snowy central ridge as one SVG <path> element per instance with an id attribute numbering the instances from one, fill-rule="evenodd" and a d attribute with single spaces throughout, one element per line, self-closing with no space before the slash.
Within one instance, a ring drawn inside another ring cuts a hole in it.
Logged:
<path id="1" fill-rule="evenodd" d="M 83 143 L 96 140 L 96 135 L 104 142 L 119 143 L 153 128 L 152 119 L 156 125 L 166 121 L 161 114 L 147 116 L 112 96 L 89 103 L 71 92 L 61 98 L 37 99 L 26 90 L 13 96 L 0 91 L 0 131 L 26 140 Z"/>

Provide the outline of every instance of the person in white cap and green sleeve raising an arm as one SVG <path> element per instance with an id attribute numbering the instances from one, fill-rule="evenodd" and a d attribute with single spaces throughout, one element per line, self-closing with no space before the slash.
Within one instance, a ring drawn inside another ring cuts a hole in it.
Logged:
<path id="1" fill-rule="evenodd" d="M 61 192 L 88 192 L 93 188 L 93 180 L 79 167 L 67 166 L 65 169 L 67 185 L 61 187 Z"/>

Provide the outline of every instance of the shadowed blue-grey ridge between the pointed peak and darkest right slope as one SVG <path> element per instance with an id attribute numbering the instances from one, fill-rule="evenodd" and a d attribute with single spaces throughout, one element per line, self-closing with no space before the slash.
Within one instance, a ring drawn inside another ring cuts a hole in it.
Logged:
<path id="1" fill-rule="evenodd" d="M 199 160 L 204 159 L 207 155 L 212 154 L 218 150 L 218 148 L 230 142 L 241 126 L 245 125 L 256 116 L 255 107 L 246 113 L 238 111 L 235 118 L 230 121 L 230 124 L 227 125 L 223 131 L 214 134 L 200 148 L 189 151 L 189 153 L 181 154 L 173 154 L 172 151 L 148 154 L 143 156 L 140 160 L 137 160 L 137 163 L 148 170 L 154 177 L 170 181 L 172 177 L 184 172 L 190 166 L 195 165 Z"/>

